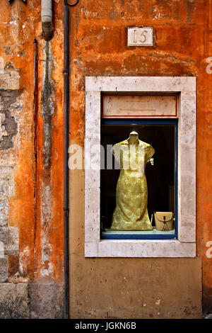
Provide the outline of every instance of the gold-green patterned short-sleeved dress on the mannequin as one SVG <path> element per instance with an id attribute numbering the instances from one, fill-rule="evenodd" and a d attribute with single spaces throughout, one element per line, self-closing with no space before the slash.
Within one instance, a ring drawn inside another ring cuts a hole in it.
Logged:
<path id="1" fill-rule="evenodd" d="M 114 145 L 112 153 L 119 161 L 120 174 L 111 230 L 153 230 L 148 218 L 145 167 L 155 150 L 141 140 L 132 145 L 127 139 Z"/>

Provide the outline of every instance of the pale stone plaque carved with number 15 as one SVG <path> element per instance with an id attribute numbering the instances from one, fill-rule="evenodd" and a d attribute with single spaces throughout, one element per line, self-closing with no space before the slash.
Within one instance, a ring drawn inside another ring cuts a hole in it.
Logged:
<path id="1" fill-rule="evenodd" d="M 153 28 L 128 28 L 127 46 L 153 46 Z"/>

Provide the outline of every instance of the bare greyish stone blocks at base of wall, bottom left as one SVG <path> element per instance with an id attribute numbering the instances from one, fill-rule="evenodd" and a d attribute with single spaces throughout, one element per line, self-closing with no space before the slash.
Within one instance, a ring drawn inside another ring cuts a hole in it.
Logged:
<path id="1" fill-rule="evenodd" d="M 63 290 L 57 283 L 0 283 L 0 318 L 62 318 Z"/>

